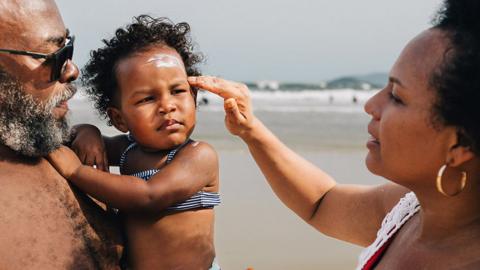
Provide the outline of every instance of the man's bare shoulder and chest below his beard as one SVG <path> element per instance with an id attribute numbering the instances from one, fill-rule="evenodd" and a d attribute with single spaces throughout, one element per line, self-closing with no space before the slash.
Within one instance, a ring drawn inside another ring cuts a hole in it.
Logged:
<path id="1" fill-rule="evenodd" d="M 1 269 L 118 266 L 115 220 L 47 161 L 0 160 L 0 186 Z"/>

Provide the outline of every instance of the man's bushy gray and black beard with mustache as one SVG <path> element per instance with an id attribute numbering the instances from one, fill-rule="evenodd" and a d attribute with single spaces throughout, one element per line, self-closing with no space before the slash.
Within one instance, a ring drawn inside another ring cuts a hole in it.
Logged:
<path id="1" fill-rule="evenodd" d="M 76 92 L 65 90 L 46 102 L 27 94 L 22 85 L 0 71 L 0 143 L 29 157 L 45 156 L 70 138 L 66 117 L 56 119 L 53 109 Z"/>

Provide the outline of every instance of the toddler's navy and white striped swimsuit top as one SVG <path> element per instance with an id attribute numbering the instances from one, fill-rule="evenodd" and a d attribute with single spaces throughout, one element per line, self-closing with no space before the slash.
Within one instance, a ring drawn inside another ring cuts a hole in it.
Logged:
<path id="1" fill-rule="evenodd" d="M 128 135 L 128 140 L 131 142 L 131 144 L 125 149 L 125 151 L 122 153 L 120 157 L 120 171 L 125 164 L 128 152 L 137 146 L 137 143 L 133 140 L 132 136 Z M 172 162 L 173 158 L 175 157 L 175 154 L 180 149 L 182 149 L 182 147 L 184 147 L 185 145 L 191 142 L 193 142 L 193 140 L 188 139 L 177 148 L 170 150 L 170 152 L 167 154 L 167 160 L 165 163 L 168 165 L 170 162 Z M 159 171 L 160 171 L 159 169 L 149 169 L 145 171 L 136 172 L 130 175 L 138 178 L 142 178 L 143 180 L 148 181 L 150 177 L 152 177 Z M 197 208 L 213 208 L 214 206 L 217 206 L 219 204 L 220 204 L 220 195 L 218 193 L 199 191 L 196 194 L 194 194 L 192 197 L 188 198 L 186 201 L 172 205 L 168 207 L 166 210 L 167 211 L 185 211 L 185 210 L 191 210 L 191 209 L 197 209 Z"/>

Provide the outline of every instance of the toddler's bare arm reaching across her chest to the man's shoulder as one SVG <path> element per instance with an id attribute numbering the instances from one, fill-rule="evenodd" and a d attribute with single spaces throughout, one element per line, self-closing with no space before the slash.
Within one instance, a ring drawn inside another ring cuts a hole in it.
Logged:
<path id="1" fill-rule="evenodd" d="M 48 159 L 58 172 L 80 189 L 124 212 L 159 214 L 205 187 L 218 188 L 217 155 L 205 143 L 185 146 L 148 182 L 82 165 L 75 153 L 63 146 L 49 154 Z"/>

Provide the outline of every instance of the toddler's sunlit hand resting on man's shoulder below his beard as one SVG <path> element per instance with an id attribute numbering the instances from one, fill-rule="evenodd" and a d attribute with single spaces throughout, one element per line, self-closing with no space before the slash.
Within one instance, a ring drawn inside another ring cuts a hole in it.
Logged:
<path id="1" fill-rule="evenodd" d="M 80 162 L 77 155 L 70 148 L 63 145 L 48 154 L 47 159 L 66 179 L 70 179 L 82 166 L 82 162 Z"/>

